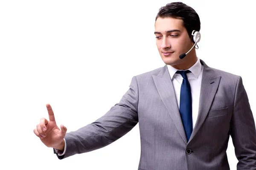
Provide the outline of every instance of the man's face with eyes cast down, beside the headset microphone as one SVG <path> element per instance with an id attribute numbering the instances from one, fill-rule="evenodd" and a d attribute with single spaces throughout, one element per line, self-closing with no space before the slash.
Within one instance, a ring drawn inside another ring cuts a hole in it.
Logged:
<path id="1" fill-rule="evenodd" d="M 192 48 L 193 43 L 189 38 L 183 20 L 171 17 L 158 17 L 155 23 L 157 49 L 163 62 L 167 65 L 180 69 L 189 62 L 189 54 L 180 59 L 180 54 L 186 53 Z"/>

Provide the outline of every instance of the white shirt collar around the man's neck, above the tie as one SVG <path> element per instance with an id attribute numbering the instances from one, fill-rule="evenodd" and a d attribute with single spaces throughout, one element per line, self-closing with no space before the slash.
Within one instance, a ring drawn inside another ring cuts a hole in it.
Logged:
<path id="1" fill-rule="evenodd" d="M 167 68 L 169 70 L 169 74 L 171 76 L 171 79 L 173 78 L 174 74 L 176 73 L 176 71 L 178 71 L 178 69 L 172 67 L 171 65 L 167 65 Z M 200 62 L 200 59 L 198 59 L 194 65 L 192 65 L 192 67 L 190 67 L 189 71 L 191 71 L 193 73 L 193 75 L 195 76 L 195 78 L 198 78 L 199 77 L 199 74 L 201 72 L 201 69 L 202 69 L 202 65 L 201 65 L 201 62 Z"/>

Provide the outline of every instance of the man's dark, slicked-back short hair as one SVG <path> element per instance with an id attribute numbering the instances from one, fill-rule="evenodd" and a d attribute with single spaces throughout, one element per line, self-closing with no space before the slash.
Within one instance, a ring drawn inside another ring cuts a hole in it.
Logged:
<path id="1" fill-rule="evenodd" d="M 172 17 L 183 20 L 183 25 L 186 28 L 189 37 L 192 37 L 191 34 L 193 30 L 200 31 L 201 28 L 200 18 L 196 11 L 181 2 L 168 3 L 166 6 L 161 7 L 158 11 L 156 20 L 158 17 Z"/>

